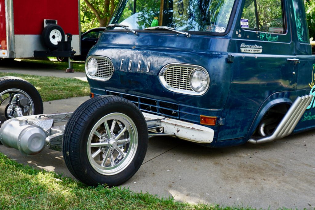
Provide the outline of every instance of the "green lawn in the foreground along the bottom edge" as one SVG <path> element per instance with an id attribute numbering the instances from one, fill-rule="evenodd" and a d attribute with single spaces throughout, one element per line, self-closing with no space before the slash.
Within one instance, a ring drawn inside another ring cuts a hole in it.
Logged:
<path id="1" fill-rule="evenodd" d="M 216 204 L 192 205 L 173 198 L 160 199 L 149 193 L 135 193 L 126 188 L 89 187 L 56 173 L 24 166 L 2 153 L 0 177 L 0 209 L 253 209 Z"/>

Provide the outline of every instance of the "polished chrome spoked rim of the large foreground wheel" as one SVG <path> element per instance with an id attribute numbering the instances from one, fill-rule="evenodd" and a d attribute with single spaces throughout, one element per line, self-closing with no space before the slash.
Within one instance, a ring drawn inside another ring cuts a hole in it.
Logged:
<path id="1" fill-rule="evenodd" d="M 138 147 L 135 123 L 123 113 L 110 113 L 92 128 L 87 145 L 91 166 L 100 174 L 122 172 L 134 159 Z"/>

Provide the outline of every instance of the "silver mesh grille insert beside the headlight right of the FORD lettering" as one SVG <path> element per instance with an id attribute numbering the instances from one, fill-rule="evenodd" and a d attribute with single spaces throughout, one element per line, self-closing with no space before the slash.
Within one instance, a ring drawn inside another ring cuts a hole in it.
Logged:
<path id="1" fill-rule="evenodd" d="M 184 66 L 171 66 L 163 74 L 165 82 L 172 88 L 193 91 L 190 87 L 189 77 L 195 68 Z"/>

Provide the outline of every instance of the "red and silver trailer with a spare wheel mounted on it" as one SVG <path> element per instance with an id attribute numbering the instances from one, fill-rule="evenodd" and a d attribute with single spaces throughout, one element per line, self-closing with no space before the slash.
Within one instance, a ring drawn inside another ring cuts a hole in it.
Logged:
<path id="1" fill-rule="evenodd" d="M 34 51 L 37 56 L 38 52 L 41 56 L 65 56 L 56 49 L 58 42 L 67 41 L 67 33 L 72 34 L 75 55 L 80 55 L 79 5 L 79 0 L 0 0 L 0 49 L 7 49 L 7 55 L 0 56 L 29 58 L 34 57 Z"/>

